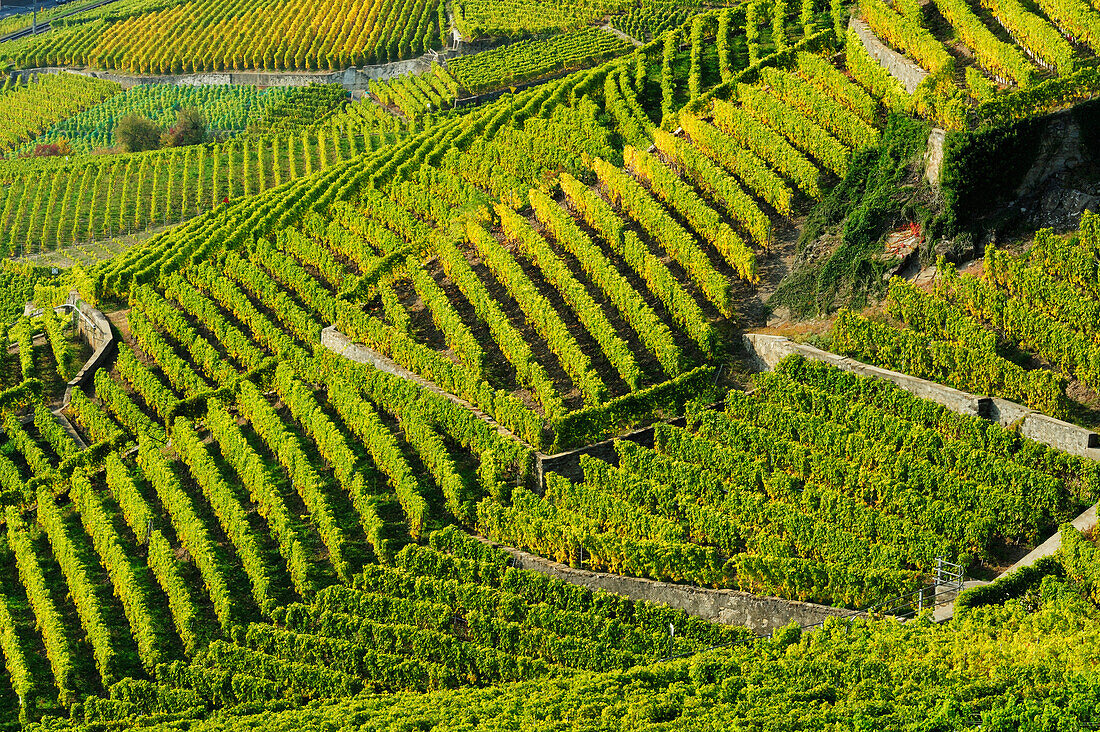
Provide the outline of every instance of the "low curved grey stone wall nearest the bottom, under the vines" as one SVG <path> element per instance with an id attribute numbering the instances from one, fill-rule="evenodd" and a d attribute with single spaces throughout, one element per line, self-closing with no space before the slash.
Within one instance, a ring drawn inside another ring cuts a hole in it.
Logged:
<path id="1" fill-rule="evenodd" d="M 842 608 L 749 594 L 737 590 L 711 590 L 690 584 L 672 584 L 637 577 L 593 572 L 575 569 L 520 549 L 507 546 L 499 548 L 515 557 L 516 567 L 519 569 L 550 575 L 590 590 L 603 590 L 631 600 L 666 604 L 716 623 L 744 625 L 758 635 L 767 635 L 791 621 L 809 626 L 822 623 L 828 618 L 860 614 Z"/>

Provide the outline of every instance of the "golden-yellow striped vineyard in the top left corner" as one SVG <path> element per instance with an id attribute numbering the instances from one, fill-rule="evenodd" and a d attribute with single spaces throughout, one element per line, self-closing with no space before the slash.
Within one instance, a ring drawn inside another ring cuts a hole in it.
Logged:
<path id="1" fill-rule="evenodd" d="M 96 66 L 132 74 L 338 69 L 418 56 L 438 48 L 446 29 L 438 2 L 340 2 L 317 13 L 318 6 L 306 0 L 260 6 L 191 0 L 139 4 L 116 15 L 91 11 L 42 36 L 0 44 L 0 58 L 26 67 Z"/>

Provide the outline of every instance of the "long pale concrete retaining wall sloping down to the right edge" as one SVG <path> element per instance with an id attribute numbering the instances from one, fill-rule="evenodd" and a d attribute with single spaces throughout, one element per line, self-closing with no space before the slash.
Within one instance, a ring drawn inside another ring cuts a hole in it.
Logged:
<path id="1" fill-rule="evenodd" d="M 982 417 L 1002 427 L 1019 425 L 1020 434 L 1027 439 L 1071 455 L 1100 460 L 1100 437 L 1096 433 L 1034 412 L 1015 402 L 978 396 L 909 374 L 868 365 L 854 359 L 823 351 L 820 348 L 795 343 L 782 336 L 747 334 L 745 348 L 759 370 L 771 370 L 784 357 L 798 353 L 815 361 L 825 361 L 838 369 L 861 376 L 891 381 L 906 392 L 943 404 L 953 412 Z"/>

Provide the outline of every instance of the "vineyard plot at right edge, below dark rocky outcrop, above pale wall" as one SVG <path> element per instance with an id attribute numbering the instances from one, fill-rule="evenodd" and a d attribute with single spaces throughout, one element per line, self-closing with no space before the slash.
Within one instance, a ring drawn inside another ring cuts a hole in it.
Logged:
<path id="1" fill-rule="evenodd" d="M 1097 245 L 1096 216 L 1086 214 L 1075 240 L 1043 230 L 1024 253 L 988 248 L 981 273 L 960 275 L 945 265 L 927 292 L 895 281 L 887 312 L 902 327 L 843 313 L 834 347 L 958 389 L 1088 419 L 1100 386 Z M 1019 353 L 1047 367 L 1027 368 Z M 1076 398 L 1067 394 L 1070 382 Z"/>

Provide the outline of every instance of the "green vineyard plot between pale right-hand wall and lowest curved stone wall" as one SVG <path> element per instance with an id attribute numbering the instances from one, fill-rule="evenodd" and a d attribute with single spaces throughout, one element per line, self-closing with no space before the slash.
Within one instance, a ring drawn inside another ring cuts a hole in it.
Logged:
<path id="1" fill-rule="evenodd" d="M 785 361 L 583 482 L 479 506 L 490 538 L 596 571 L 873 605 L 937 559 L 1033 544 L 1084 509 L 1096 463 L 820 363 Z M 920 447 L 919 447 L 920 446 Z"/>

